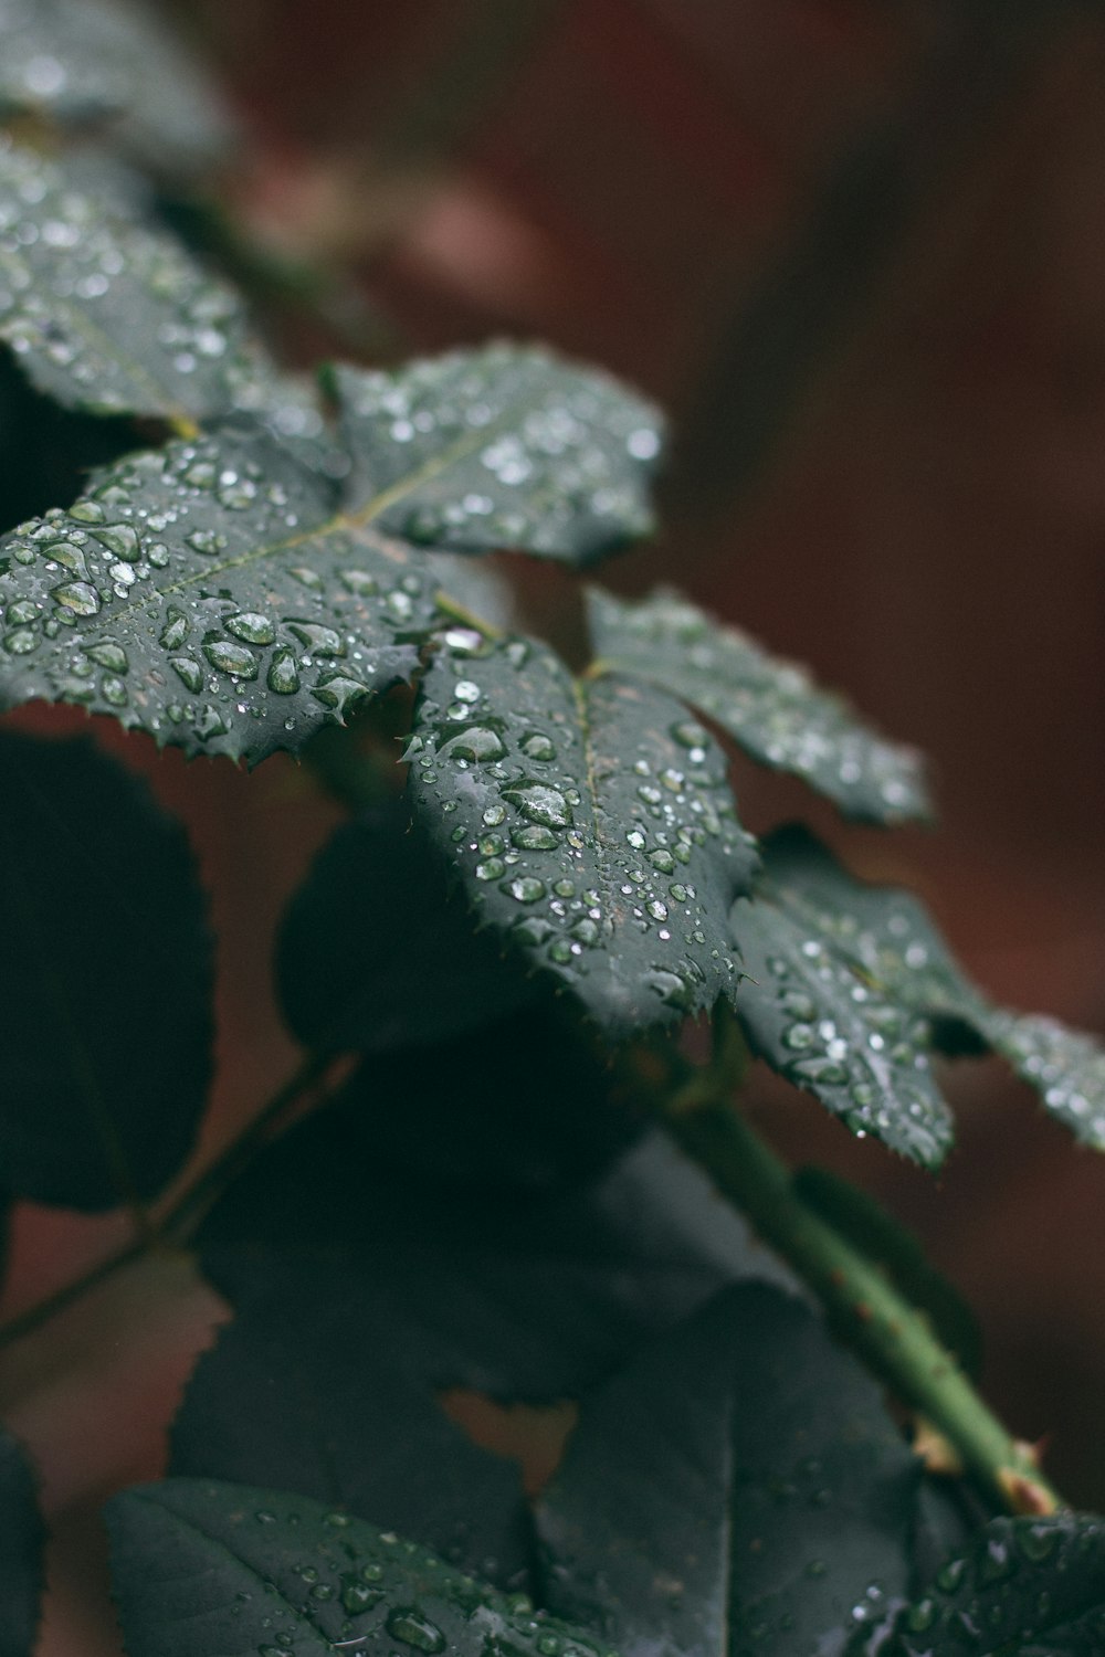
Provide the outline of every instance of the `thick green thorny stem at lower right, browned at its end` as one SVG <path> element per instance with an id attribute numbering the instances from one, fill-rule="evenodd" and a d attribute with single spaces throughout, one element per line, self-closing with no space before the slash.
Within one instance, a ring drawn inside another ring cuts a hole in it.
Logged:
<path id="1" fill-rule="evenodd" d="M 669 1100 L 676 1142 L 734 1201 L 827 1309 L 835 1329 L 895 1397 L 931 1422 L 963 1468 L 1012 1513 L 1054 1513 L 1062 1498 L 1030 1445 L 1011 1437 L 976 1394 L 928 1319 L 880 1268 L 795 1193 L 790 1170 L 732 1104 L 731 1084 L 699 1072 Z"/>

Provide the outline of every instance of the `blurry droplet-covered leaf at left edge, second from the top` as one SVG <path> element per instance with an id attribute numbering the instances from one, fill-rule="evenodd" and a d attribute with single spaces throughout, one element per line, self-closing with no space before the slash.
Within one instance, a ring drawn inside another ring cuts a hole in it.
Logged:
<path id="1" fill-rule="evenodd" d="M 0 139 L 0 340 L 66 408 L 205 419 L 258 373 L 242 302 L 164 232 Z"/>

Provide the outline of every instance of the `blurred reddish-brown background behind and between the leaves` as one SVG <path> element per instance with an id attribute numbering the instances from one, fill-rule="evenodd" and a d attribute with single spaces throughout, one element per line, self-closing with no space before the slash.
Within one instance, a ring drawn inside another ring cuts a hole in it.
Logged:
<path id="1" fill-rule="evenodd" d="M 845 830 L 797 784 L 737 762 L 749 825 L 807 817 L 861 872 L 914 885 L 997 996 L 1100 1032 L 1100 13 L 1050 0 L 164 8 L 242 113 L 225 189 L 250 235 L 340 273 L 311 316 L 273 307 L 282 348 L 303 365 L 388 361 L 540 336 L 653 393 L 674 431 L 664 529 L 608 583 L 678 580 L 933 761 L 938 832 Z M 570 643 L 570 583 L 535 568 L 524 585 Z M 272 936 L 335 812 L 285 761 L 247 777 L 103 736 L 187 820 L 214 893 L 210 1148 L 293 1057 Z M 1025 1438 L 1050 1438 L 1072 1500 L 1102 1508 L 1105 1162 L 996 1064 L 959 1067 L 949 1090 L 961 1145 L 938 1181 L 767 1077 L 754 1109 L 790 1158 L 847 1171 L 916 1226 L 981 1314 L 987 1395 Z M 113 1225 L 20 1215 L 17 1302 Z M 12 1415 L 48 1445 L 63 1514 L 48 1657 L 114 1649 L 86 1621 L 80 1514 L 119 1476 L 159 1470 L 187 1355 L 219 1316 L 182 1268 L 157 1269 L 164 1297 L 134 1283 L 99 1312 L 126 1344 L 126 1297 L 161 1307 L 141 1385 L 113 1390 L 101 1365 L 81 1394 L 81 1326 L 36 1360 L 38 1402 Z M 78 1428 L 41 1423 L 43 1374 Z"/>

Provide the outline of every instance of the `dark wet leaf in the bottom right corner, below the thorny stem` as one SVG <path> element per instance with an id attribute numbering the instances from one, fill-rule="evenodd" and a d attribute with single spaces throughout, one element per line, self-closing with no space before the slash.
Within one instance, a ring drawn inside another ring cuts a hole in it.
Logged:
<path id="1" fill-rule="evenodd" d="M 923 1597 L 870 1609 L 847 1657 L 1090 1657 L 1105 1649 L 1105 1523 L 992 1519 Z"/>

